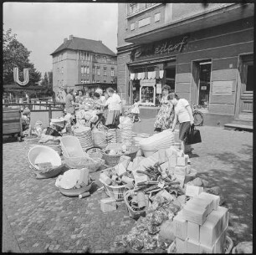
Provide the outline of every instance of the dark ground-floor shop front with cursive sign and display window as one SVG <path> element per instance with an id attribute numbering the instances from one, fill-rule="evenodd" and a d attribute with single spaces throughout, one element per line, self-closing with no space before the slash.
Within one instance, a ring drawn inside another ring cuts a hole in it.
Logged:
<path id="1" fill-rule="evenodd" d="M 252 17 L 138 45 L 127 68 L 131 103 L 158 106 L 168 84 L 199 105 L 204 123 L 253 120 Z"/>

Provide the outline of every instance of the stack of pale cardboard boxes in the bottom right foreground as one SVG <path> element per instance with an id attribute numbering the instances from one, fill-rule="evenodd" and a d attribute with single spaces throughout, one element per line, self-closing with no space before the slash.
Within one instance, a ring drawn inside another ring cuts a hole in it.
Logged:
<path id="1" fill-rule="evenodd" d="M 177 253 L 224 252 L 228 209 L 218 206 L 219 199 L 202 192 L 173 218 Z"/>

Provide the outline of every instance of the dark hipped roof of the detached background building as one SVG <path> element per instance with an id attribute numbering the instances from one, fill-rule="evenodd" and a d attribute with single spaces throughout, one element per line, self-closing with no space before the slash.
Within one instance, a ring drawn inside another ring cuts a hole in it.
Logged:
<path id="1" fill-rule="evenodd" d="M 50 55 L 57 54 L 64 49 L 84 50 L 93 52 L 95 54 L 116 56 L 116 54 L 112 50 L 110 50 L 110 48 L 107 48 L 105 44 L 103 44 L 101 41 L 78 37 L 73 37 L 72 39 L 69 39 L 66 42 L 62 43 L 59 48 L 55 49 L 54 52 Z"/>

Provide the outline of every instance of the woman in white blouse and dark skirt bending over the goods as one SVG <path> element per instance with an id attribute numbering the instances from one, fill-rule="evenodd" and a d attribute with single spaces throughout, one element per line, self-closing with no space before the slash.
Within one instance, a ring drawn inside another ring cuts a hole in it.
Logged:
<path id="1" fill-rule="evenodd" d="M 180 123 L 179 128 L 179 139 L 182 141 L 182 150 L 185 152 L 185 138 L 187 137 L 187 132 L 191 125 L 194 124 L 194 117 L 192 114 L 192 109 L 188 104 L 187 99 L 180 99 L 177 94 L 168 94 L 168 100 L 174 105 L 175 117 L 172 125 L 172 132 L 175 130 L 177 125 L 177 120 Z"/>

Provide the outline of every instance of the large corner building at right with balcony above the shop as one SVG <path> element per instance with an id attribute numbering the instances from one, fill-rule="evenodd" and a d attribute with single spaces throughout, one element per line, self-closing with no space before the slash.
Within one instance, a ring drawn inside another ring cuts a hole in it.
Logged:
<path id="1" fill-rule="evenodd" d="M 213 124 L 252 125 L 253 3 L 119 3 L 118 11 L 117 84 L 130 104 L 157 111 L 169 84 Z"/>

